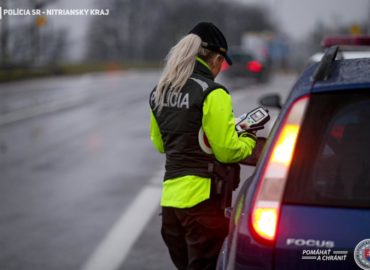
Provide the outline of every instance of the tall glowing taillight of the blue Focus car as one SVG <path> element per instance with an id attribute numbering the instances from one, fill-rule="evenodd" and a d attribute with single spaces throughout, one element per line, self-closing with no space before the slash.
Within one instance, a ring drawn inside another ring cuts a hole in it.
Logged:
<path id="1" fill-rule="evenodd" d="M 257 241 L 275 240 L 285 183 L 308 101 L 309 96 L 304 96 L 290 107 L 261 174 L 250 216 Z"/>

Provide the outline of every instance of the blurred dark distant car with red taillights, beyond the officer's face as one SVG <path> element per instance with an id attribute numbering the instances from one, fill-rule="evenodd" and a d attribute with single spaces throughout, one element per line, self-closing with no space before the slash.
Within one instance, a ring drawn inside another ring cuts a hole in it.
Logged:
<path id="1" fill-rule="evenodd" d="M 259 59 L 252 52 L 242 49 L 230 50 L 228 55 L 233 64 L 230 66 L 224 61 L 221 67 L 221 73 L 226 77 L 253 79 L 258 83 L 268 81 L 270 75 L 268 61 Z"/>

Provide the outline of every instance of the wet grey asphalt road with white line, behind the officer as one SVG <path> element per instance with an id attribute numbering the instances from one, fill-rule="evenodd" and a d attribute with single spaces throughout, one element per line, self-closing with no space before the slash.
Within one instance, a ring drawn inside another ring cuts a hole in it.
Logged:
<path id="1" fill-rule="evenodd" d="M 158 77 L 126 71 L 0 85 L 0 269 L 174 269 L 160 237 L 164 157 L 148 133 Z M 285 97 L 294 79 L 235 86 L 235 114 L 261 95 Z"/>

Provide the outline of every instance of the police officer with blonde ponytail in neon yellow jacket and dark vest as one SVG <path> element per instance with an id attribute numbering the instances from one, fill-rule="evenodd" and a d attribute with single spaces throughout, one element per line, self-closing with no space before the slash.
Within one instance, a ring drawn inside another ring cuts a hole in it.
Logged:
<path id="1" fill-rule="evenodd" d="M 161 233 L 178 269 L 215 269 L 228 221 L 209 164 L 237 163 L 256 144 L 235 131 L 227 89 L 214 82 L 222 62 L 232 64 L 227 42 L 212 23 L 197 24 L 169 52 L 150 95 L 151 140 L 166 154 Z M 199 146 L 202 128 L 213 154 Z"/>

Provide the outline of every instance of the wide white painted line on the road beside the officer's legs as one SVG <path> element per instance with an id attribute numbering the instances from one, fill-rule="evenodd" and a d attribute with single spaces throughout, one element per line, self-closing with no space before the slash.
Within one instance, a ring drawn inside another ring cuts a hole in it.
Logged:
<path id="1" fill-rule="evenodd" d="M 159 176 L 157 179 L 161 179 Z M 83 270 L 116 270 L 124 262 L 136 239 L 159 207 L 161 186 L 151 180 L 100 243 Z M 155 181 L 158 183 L 158 180 Z"/>

